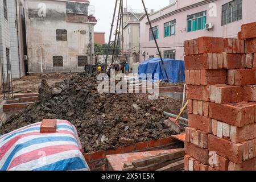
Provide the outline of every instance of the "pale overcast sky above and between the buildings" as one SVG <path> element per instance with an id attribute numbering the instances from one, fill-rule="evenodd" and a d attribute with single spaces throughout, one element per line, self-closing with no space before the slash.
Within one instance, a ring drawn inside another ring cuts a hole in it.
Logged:
<path id="1" fill-rule="evenodd" d="M 143 5 L 141 0 L 123 0 L 124 7 L 131 7 L 132 9 L 142 9 Z M 155 11 L 162 9 L 169 5 L 169 0 L 144 0 L 146 7 Z M 90 5 L 95 6 L 95 15 L 98 20 L 97 25 L 94 27 L 94 31 L 106 32 L 105 42 L 108 42 L 110 24 L 112 22 L 115 0 L 90 0 Z M 113 34 L 112 34 L 113 35 Z"/>

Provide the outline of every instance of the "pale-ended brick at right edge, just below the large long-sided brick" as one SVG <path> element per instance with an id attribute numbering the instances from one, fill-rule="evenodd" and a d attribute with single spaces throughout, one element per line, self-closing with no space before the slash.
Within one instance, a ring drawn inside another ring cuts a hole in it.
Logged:
<path id="1" fill-rule="evenodd" d="M 230 127 L 230 140 L 234 143 L 245 142 L 256 138 L 256 123 L 245 125 L 243 127 Z"/>

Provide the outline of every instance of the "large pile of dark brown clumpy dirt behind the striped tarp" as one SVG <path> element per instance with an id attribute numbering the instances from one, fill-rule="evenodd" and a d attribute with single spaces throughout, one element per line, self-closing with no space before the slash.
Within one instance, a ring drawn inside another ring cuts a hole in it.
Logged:
<path id="1" fill-rule="evenodd" d="M 170 97 L 148 100 L 147 94 L 99 94 L 97 85 L 97 75 L 85 73 L 58 82 L 54 88 L 42 80 L 39 101 L 12 115 L 0 135 L 42 119 L 65 119 L 76 126 L 84 151 L 90 152 L 174 134 L 163 124 L 167 119 L 163 111 L 178 114 L 180 101 Z"/>

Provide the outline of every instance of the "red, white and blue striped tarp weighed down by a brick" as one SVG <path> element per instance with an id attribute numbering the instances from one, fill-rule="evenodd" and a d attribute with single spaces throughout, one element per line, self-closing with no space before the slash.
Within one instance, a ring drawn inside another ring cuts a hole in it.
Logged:
<path id="1" fill-rule="evenodd" d="M 0 171 L 89 170 L 75 126 L 57 120 L 56 133 L 44 134 L 40 125 L 0 136 Z"/>

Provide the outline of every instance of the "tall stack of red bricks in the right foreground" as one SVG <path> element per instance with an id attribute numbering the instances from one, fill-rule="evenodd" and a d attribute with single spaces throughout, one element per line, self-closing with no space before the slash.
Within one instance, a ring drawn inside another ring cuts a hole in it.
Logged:
<path id="1" fill-rule="evenodd" d="M 188 171 L 256 170 L 256 22 L 185 42 Z"/>

